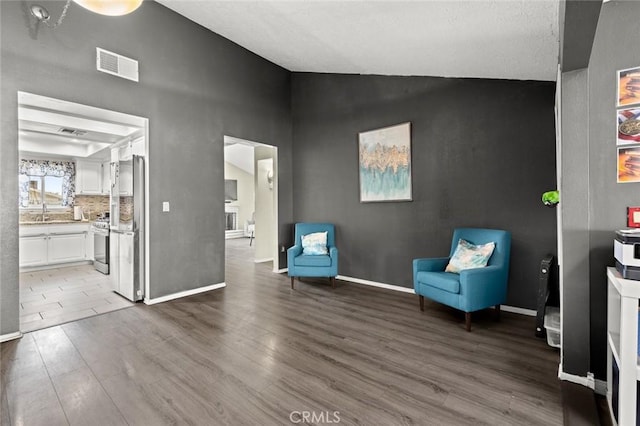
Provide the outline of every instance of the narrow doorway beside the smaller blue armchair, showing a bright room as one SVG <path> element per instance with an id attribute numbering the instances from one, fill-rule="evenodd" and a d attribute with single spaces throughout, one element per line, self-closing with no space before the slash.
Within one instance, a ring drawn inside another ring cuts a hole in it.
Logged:
<path id="1" fill-rule="evenodd" d="M 225 252 L 278 271 L 277 148 L 225 136 L 224 163 Z"/>

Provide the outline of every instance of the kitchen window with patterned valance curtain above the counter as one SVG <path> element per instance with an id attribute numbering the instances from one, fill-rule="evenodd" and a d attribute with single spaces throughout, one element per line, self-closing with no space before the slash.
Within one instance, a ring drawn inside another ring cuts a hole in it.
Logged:
<path id="1" fill-rule="evenodd" d="M 21 208 L 67 207 L 75 196 L 75 163 L 20 160 L 18 175 Z"/>

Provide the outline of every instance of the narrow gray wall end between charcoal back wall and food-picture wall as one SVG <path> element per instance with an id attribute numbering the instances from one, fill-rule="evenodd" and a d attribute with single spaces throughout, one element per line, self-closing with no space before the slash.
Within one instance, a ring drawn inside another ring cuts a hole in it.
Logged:
<path id="1" fill-rule="evenodd" d="M 589 282 L 589 82 L 586 69 L 562 74 L 562 212 L 564 372 L 585 377 L 590 371 Z"/>

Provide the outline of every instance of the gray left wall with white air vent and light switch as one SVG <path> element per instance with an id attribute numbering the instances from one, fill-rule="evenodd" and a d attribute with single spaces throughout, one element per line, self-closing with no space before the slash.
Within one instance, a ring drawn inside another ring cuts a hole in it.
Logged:
<path id="1" fill-rule="evenodd" d="M 291 223 L 288 71 L 151 1 L 119 18 L 72 3 L 55 30 L 35 26 L 31 2 L 0 3 L 0 334 L 18 329 L 17 203 L 7 194 L 17 188 L 19 90 L 149 118 L 153 298 L 224 281 L 225 134 L 279 148 L 280 221 Z M 53 19 L 63 5 L 46 2 Z M 140 82 L 97 72 L 96 46 L 139 60 Z"/>

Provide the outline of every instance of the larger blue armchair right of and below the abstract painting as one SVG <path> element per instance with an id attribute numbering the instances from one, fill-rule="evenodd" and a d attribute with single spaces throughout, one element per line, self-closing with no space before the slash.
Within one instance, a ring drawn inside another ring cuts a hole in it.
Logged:
<path id="1" fill-rule="evenodd" d="M 472 244 L 495 242 L 496 246 L 484 268 L 466 269 L 460 274 L 444 272 L 460 238 Z M 458 228 L 453 232 L 449 257 L 414 259 L 413 288 L 424 311 L 424 298 L 464 311 L 467 331 L 471 331 L 471 312 L 496 307 L 507 299 L 511 233 L 498 229 Z"/>

